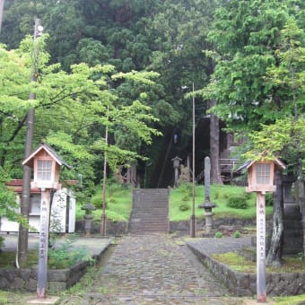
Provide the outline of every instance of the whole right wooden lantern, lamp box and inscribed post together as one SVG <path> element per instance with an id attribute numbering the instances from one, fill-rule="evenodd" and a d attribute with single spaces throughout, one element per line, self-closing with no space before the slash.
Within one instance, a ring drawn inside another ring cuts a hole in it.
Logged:
<path id="1" fill-rule="evenodd" d="M 257 193 L 257 301 L 266 302 L 266 192 L 274 192 L 274 167 L 284 169 L 282 161 L 248 161 L 246 192 Z"/>

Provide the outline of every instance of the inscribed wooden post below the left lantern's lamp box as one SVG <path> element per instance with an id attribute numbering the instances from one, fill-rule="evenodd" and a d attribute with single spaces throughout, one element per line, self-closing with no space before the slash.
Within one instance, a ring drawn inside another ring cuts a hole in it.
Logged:
<path id="1" fill-rule="evenodd" d="M 39 265 L 37 274 L 37 297 L 46 298 L 48 281 L 48 222 L 51 199 L 50 189 L 41 189 L 40 232 L 39 232 Z"/>

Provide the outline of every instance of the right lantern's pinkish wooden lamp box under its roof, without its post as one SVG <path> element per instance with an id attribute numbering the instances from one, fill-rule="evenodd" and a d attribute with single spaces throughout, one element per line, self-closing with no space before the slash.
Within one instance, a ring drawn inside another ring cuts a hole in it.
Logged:
<path id="1" fill-rule="evenodd" d="M 274 170 L 285 169 L 282 161 L 274 159 L 273 161 L 247 161 L 239 170 L 247 168 L 248 187 L 246 192 L 274 192 Z"/>

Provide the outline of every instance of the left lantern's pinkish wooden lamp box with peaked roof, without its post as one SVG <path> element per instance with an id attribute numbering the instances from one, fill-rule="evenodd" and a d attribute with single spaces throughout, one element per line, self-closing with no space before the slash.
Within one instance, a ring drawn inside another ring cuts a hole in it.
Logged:
<path id="1" fill-rule="evenodd" d="M 70 169 L 55 151 L 47 144 L 40 144 L 35 152 L 31 153 L 23 162 L 34 170 L 34 179 L 31 187 L 61 188 L 59 184 L 59 170 L 62 165 Z"/>

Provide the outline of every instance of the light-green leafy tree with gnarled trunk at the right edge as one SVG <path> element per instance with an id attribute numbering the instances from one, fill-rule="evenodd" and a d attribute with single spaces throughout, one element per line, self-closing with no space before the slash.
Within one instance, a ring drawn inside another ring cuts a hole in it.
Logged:
<path id="1" fill-rule="evenodd" d="M 268 69 L 267 78 L 274 81 L 279 90 L 287 92 L 286 104 L 291 104 L 293 113 L 288 118 L 277 120 L 274 124 L 263 126 L 256 134 L 251 134 L 255 149 L 248 155 L 268 152 L 271 155 L 281 154 L 287 162 L 288 171 L 294 173 L 298 180 L 296 194 L 301 206 L 302 218 L 305 217 L 304 171 L 305 171 L 305 118 L 304 118 L 304 84 L 305 84 L 305 32 L 293 18 L 289 19 L 281 30 L 281 43 L 275 50 L 278 64 Z M 266 155 L 267 157 L 267 155 Z M 278 192 L 277 192 L 278 193 Z M 275 194 L 276 196 L 276 194 Z M 280 264 L 283 240 L 283 205 L 274 200 L 274 231 L 267 264 Z M 305 251 L 305 244 L 303 244 Z"/>

